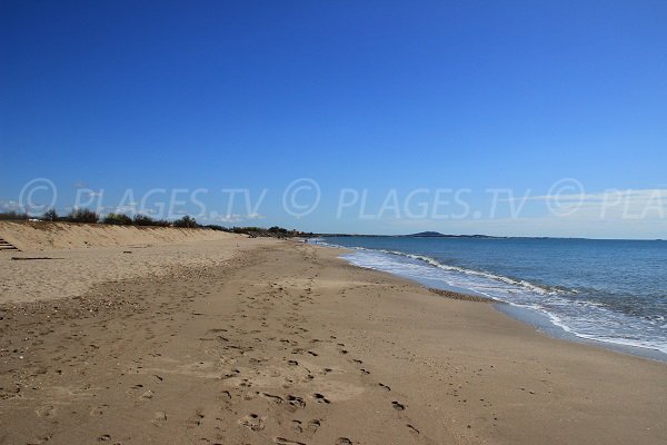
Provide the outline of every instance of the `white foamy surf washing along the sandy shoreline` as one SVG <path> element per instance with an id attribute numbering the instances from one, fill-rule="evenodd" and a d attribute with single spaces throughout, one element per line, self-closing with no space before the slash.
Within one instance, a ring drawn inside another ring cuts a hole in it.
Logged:
<path id="1" fill-rule="evenodd" d="M 315 244 L 335 246 L 323 239 Z M 396 250 L 351 248 L 344 255 L 356 266 L 384 270 L 415 280 L 442 283 L 444 287 L 469 289 L 477 294 L 545 314 L 550 323 L 571 335 L 590 340 L 657 349 L 667 354 L 667 325 L 615 312 L 599 301 L 585 299 L 576 289 L 550 288 L 482 270 L 446 265 L 425 255 Z"/>

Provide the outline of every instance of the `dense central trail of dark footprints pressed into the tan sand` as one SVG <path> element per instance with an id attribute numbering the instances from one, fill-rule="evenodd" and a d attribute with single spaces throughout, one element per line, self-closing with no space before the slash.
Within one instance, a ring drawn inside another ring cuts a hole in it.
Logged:
<path id="1" fill-rule="evenodd" d="M 263 277 L 266 278 L 266 277 Z M 297 277 L 295 277 L 297 278 Z M 255 335 L 253 340 L 257 344 L 257 348 L 249 346 L 247 344 L 230 344 L 229 339 L 225 337 L 225 333 L 228 330 L 225 328 L 210 330 L 209 333 L 220 334 L 218 339 L 222 346 L 222 350 L 226 355 L 231 355 L 232 362 L 237 364 L 237 368 L 231 369 L 229 373 L 225 375 L 227 378 L 236 378 L 236 387 L 229 387 L 222 390 L 220 394 L 220 399 L 222 400 L 231 400 L 232 397 L 238 397 L 242 400 L 253 400 L 257 397 L 261 397 L 266 399 L 269 406 L 276 406 L 283 409 L 283 412 L 289 416 L 289 414 L 296 414 L 297 412 L 305 411 L 307 406 L 310 404 L 315 404 L 316 406 L 325 408 L 332 404 L 329 397 L 322 393 L 312 393 L 312 394 L 291 394 L 289 389 L 295 385 L 299 384 L 300 387 L 303 384 L 307 384 L 309 380 L 313 380 L 316 378 L 326 377 L 334 369 L 328 367 L 322 367 L 320 369 L 308 369 L 302 363 L 300 363 L 298 357 L 308 356 L 310 358 L 315 358 L 320 356 L 317 350 L 313 350 L 311 347 L 317 347 L 318 344 L 332 344 L 337 348 L 338 353 L 342 356 L 350 355 L 349 349 L 346 348 L 344 343 L 337 340 L 336 336 L 331 335 L 329 339 L 321 340 L 319 338 L 313 338 L 309 335 L 308 329 L 299 326 L 302 322 L 301 315 L 299 310 L 301 309 L 301 305 L 303 304 L 313 304 L 313 291 L 315 287 L 315 277 L 308 278 L 309 286 L 305 290 L 305 295 L 298 295 L 296 297 L 290 297 L 290 294 L 286 291 L 285 286 L 287 284 L 278 284 L 278 283 L 269 283 L 268 289 L 259 291 L 257 295 L 247 295 L 242 301 L 242 305 L 239 306 L 239 309 L 231 316 L 231 320 L 235 323 L 230 325 L 230 329 L 232 329 L 237 335 L 232 335 L 233 338 L 247 338 L 246 336 L 249 334 L 247 330 L 242 329 L 240 326 L 236 326 L 237 323 L 248 323 L 257 326 L 257 322 L 259 323 L 260 329 L 252 330 L 252 335 Z M 239 293 L 239 296 L 243 296 L 245 293 Z M 278 318 L 272 316 L 273 309 L 278 305 L 286 305 L 290 308 L 287 312 L 287 317 Z M 268 328 L 275 325 L 276 323 L 280 324 L 280 328 L 278 333 L 280 333 L 281 337 L 268 337 L 265 335 L 268 332 Z M 276 345 L 276 346 L 273 346 Z M 303 345 L 303 346 L 301 346 Z M 307 347 L 306 345 L 310 345 L 311 347 Z M 262 390 L 249 390 L 253 387 L 253 378 L 256 376 L 250 376 L 250 378 L 246 378 L 241 376 L 241 372 L 239 369 L 245 368 L 242 365 L 245 363 L 261 363 L 268 362 L 263 357 L 258 357 L 257 354 L 261 355 L 263 348 L 267 347 L 281 347 L 286 350 L 286 354 L 289 354 L 285 359 L 285 372 L 275 372 L 273 377 L 282 377 L 282 388 L 285 389 L 285 394 L 273 394 L 269 392 Z M 371 372 L 364 366 L 364 362 L 357 358 L 351 358 L 348 360 L 350 364 L 357 367 L 359 373 L 359 378 L 368 378 L 371 375 Z M 361 367 L 364 366 L 364 367 Z M 281 375 L 285 374 L 285 375 Z M 377 389 L 382 393 L 390 393 L 391 387 L 384 383 L 377 383 Z M 233 393 L 233 395 L 232 395 Z M 407 417 L 402 414 L 407 407 L 405 404 L 399 400 L 390 400 L 387 402 L 388 406 L 390 406 L 395 412 L 400 413 L 399 419 L 406 421 Z M 240 405 L 242 406 L 242 404 Z M 242 414 L 237 423 L 239 426 L 247 428 L 250 434 L 263 434 L 263 431 L 267 426 L 267 423 L 270 421 L 271 416 L 278 416 L 281 423 L 289 423 L 291 425 L 290 433 L 291 436 L 285 434 L 283 436 L 273 437 L 273 442 L 276 444 L 302 444 L 306 445 L 309 438 L 316 435 L 318 428 L 326 422 L 323 417 L 317 417 L 311 419 L 301 418 L 291 418 L 287 422 L 282 422 L 283 415 L 280 413 L 276 413 L 275 411 L 269 409 L 271 414 L 261 413 L 261 412 L 250 412 L 250 413 L 239 413 Z M 321 411 L 320 411 L 321 413 Z M 228 413 L 229 414 L 229 413 Z M 414 436 L 419 435 L 419 431 L 411 424 L 407 423 L 406 428 Z M 263 436 L 262 436 L 263 437 Z M 303 442 L 306 441 L 306 442 Z M 336 445 L 351 445 L 354 444 L 354 438 L 348 437 L 339 437 L 335 444 Z"/>

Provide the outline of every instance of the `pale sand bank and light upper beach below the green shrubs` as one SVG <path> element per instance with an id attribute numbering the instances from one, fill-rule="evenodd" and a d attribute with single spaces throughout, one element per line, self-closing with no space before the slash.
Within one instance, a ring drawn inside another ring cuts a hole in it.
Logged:
<path id="1" fill-rule="evenodd" d="M 202 229 L 62 222 L 0 222 L 0 237 L 22 250 L 0 250 L 0 303 L 73 297 L 106 281 L 221 265 L 245 238 Z"/>

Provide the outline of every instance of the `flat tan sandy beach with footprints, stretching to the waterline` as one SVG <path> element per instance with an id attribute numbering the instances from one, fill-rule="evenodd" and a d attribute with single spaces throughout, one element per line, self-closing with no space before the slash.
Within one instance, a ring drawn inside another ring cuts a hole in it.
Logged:
<path id="1" fill-rule="evenodd" d="M 13 301 L 0 308 L 0 443 L 667 437 L 667 365 L 545 337 L 491 305 L 349 266 L 334 249 L 229 236 L 147 247 L 145 258 L 121 250 L 60 250 L 57 268 L 0 254 L 0 298 Z M 68 264 L 92 258 L 112 270 L 87 289 L 29 289 L 33 301 L 18 301 L 12 283 L 29 287 L 24 276 L 43 267 L 53 283 L 76 279 Z M 125 260 L 168 266 L 104 281 Z"/>

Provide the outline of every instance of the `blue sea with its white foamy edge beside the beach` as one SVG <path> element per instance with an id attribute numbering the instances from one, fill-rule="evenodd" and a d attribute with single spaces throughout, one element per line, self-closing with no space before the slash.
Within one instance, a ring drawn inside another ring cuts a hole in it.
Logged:
<path id="1" fill-rule="evenodd" d="M 350 263 L 538 310 L 581 338 L 667 353 L 667 241 L 329 237 Z"/>

